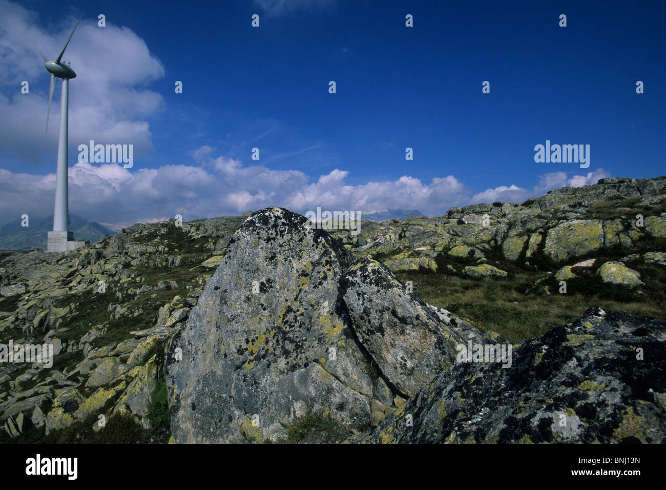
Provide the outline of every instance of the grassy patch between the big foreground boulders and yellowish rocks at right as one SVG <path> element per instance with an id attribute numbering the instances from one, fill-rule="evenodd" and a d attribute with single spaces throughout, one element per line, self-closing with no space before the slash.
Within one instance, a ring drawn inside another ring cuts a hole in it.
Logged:
<path id="1" fill-rule="evenodd" d="M 424 301 L 446 308 L 474 325 L 500 333 L 511 342 L 537 337 L 553 327 L 580 317 L 592 306 L 666 320 L 666 275 L 661 265 L 636 265 L 645 287 L 639 297 L 621 285 L 602 283 L 598 277 L 567 281 L 567 293 L 559 293 L 555 279 L 532 284 L 543 277 L 538 271 L 516 271 L 505 278 L 482 280 L 437 273 L 398 273 L 400 281 L 412 281 L 414 293 Z M 549 287 L 544 294 L 542 286 Z"/>

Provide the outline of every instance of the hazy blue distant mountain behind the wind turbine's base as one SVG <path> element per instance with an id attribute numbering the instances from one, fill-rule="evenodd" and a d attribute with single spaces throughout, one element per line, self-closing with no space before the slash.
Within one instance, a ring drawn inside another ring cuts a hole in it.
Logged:
<path id="1" fill-rule="evenodd" d="M 107 227 L 103 227 L 94 221 L 88 221 L 77 215 L 69 215 L 69 231 L 74 232 L 77 240 L 90 240 L 91 243 L 99 240 L 104 235 L 113 235 Z M 30 218 L 29 226 L 22 227 L 21 219 L 16 219 L 0 227 L 0 249 L 2 250 L 27 250 L 39 247 L 46 250 L 47 232 L 53 229 L 53 215 L 44 218 Z"/>

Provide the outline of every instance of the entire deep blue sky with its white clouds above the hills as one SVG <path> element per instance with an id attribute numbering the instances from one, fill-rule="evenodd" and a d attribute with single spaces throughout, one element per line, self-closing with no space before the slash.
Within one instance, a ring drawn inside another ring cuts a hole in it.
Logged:
<path id="1" fill-rule="evenodd" d="M 54 58 L 81 11 L 63 57 L 78 74 L 69 205 L 93 221 L 268 205 L 442 215 L 666 173 L 663 1 L 59 4 L 0 1 L 0 224 L 53 212 L 61 83 L 45 137 L 39 51 Z M 134 145 L 133 167 L 77 163 L 91 139 Z M 589 168 L 535 163 L 546 140 L 590 145 Z"/>

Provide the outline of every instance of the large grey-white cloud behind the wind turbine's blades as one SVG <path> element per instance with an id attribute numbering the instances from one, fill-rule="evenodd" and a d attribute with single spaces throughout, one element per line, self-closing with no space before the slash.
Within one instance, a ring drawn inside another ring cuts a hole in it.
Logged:
<path id="1" fill-rule="evenodd" d="M 0 0 L 0 150 L 38 161 L 57 144 L 61 79 L 56 79 L 49 132 L 44 137 L 49 97 L 49 73 L 39 55 L 54 59 L 76 17 L 66 17 L 59 29 L 41 27 L 39 17 L 14 3 Z M 69 82 L 69 142 L 76 147 L 98 143 L 132 143 L 135 154 L 153 149 L 145 117 L 164 107 L 161 94 L 147 85 L 165 74 L 161 61 L 143 39 L 127 27 L 83 19 L 67 46 L 77 78 Z M 17 87 L 29 83 L 29 93 Z"/>

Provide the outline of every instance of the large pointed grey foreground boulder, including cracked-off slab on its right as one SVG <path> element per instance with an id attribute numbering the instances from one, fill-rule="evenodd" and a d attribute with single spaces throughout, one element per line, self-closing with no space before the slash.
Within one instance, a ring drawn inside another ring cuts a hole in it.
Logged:
<path id="1" fill-rule="evenodd" d="M 230 240 L 170 343 L 176 442 L 275 440 L 312 412 L 361 430 L 449 369 L 456 343 L 485 337 L 406 293 L 384 265 L 352 265 L 306 223 L 268 208 Z"/>

